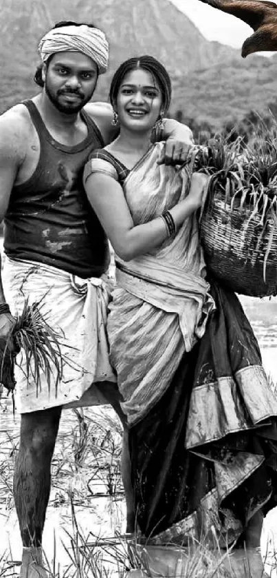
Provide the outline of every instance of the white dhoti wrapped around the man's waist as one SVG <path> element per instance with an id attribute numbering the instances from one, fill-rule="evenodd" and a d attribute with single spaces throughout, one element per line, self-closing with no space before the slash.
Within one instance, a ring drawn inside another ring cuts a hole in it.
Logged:
<path id="1" fill-rule="evenodd" d="M 100 382 L 116 382 L 109 362 L 107 305 L 110 290 L 104 276 L 82 279 L 37 262 L 5 257 L 5 298 L 12 313 L 21 313 L 25 300 L 40 302 L 49 326 L 58 334 L 63 375 L 56 386 L 41 375 L 39 388 L 26 378 L 24 353 L 16 358 L 16 409 L 28 413 L 54 406 L 80 407 L 107 403 Z M 100 384 L 100 385 L 97 385 Z"/>

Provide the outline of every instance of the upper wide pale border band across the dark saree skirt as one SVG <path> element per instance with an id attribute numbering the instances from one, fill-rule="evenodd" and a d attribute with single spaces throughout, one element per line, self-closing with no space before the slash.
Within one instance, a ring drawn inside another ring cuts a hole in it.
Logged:
<path id="1" fill-rule="evenodd" d="M 277 416 L 277 401 L 263 367 L 244 367 L 234 378 L 218 378 L 192 390 L 186 448 L 252 429 L 272 416 Z"/>

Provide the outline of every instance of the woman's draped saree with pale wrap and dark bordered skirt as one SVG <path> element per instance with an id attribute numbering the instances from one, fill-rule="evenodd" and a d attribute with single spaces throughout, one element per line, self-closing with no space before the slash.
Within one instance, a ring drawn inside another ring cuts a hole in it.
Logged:
<path id="1" fill-rule="evenodd" d="M 157 165 L 162 146 L 121 183 L 135 225 L 188 194 L 187 169 Z M 277 402 L 258 343 L 234 293 L 205 279 L 195 214 L 151 254 L 116 261 L 107 327 L 137 524 L 150 543 L 225 546 L 275 499 Z"/>

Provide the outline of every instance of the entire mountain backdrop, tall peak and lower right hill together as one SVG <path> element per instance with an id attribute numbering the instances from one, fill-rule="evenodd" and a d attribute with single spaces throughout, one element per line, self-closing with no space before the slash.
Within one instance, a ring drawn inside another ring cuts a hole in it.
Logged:
<path id="1" fill-rule="evenodd" d="M 276 100 L 277 57 L 241 59 L 239 50 L 206 40 L 169 0 L 1 0 L 0 112 L 38 92 L 32 80 L 38 40 L 65 19 L 93 23 L 109 39 L 109 72 L 95 99 L 107 100 L 111 75 L 124 59 L 153 54 L 173 81 L 171 114 L 181 110 L 184 118 L 218 128 Z"/>

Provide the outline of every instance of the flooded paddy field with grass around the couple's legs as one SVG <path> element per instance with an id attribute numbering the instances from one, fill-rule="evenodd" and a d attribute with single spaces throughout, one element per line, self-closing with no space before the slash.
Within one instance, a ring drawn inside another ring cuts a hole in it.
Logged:
<path id="1" fill-rule="evenodd" d="M 265 369 L 276 384 L 277 299 L 242 298 L 241 302 L 261 346 Z M 21 539 L 12 497 L 18 446 L 19 415 L 12 415 L 11 401 L 4 393 L 0 402 L 0 574 L 7 576 L 20 572 Z M 120 453 L 121 426 L 109 406 L 63 412 L 43 537 L 50 575 L 124 575 L 128 562 L 126 544 L 119 537 L 126 529 Z M 265 520 L 262 546 L 275 559 L 275 510 Z M 95 560 L 94 569 L 86 562 L 88 553 Z M 82 572 L 78 564 L 83 565 Z"/>

